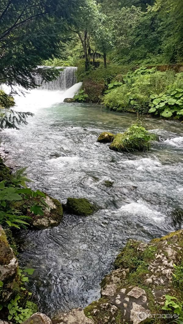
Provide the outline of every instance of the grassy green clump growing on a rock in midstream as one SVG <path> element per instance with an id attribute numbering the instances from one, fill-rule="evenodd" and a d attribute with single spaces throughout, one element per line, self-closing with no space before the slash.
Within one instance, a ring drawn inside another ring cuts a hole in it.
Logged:
<path id="1" fill-rule="evenodd" d="M 109 148 L 119 152 L 148 151 L 154 140 L 154 134 L 150 134 L 140 121 L 136 121 L 132 122 L 126 132 L 117 134 Z"/>

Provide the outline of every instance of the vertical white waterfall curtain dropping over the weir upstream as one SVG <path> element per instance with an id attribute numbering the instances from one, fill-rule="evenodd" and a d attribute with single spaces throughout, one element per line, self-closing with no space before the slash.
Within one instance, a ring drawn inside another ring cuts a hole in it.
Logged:
<path id="1" fill-rule="evenodd" d="M 43 81 L 41 84 L 41 77 L 37 76 L 37 84 L 41 84 L 40 89 L 65 91 L 72 87 L 76 83 L 75 71 L 77 70 L 77 67 L 69 66 L 62 68 L 63 70 L 60 72 L 60 76 L 54 81 Z"/>

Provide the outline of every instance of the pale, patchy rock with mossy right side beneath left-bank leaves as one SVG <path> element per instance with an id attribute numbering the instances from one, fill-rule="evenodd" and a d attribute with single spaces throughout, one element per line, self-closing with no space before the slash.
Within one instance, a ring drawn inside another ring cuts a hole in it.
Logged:
<path id="1" fill-rule="evenodd" d="M 44 209 L 44 215 L 33 217 L 32 225 L 38 229 L 58 226 L 63 217 L 63 209 L 61 203 L 57 199 L 49 196 L 43 198 L 49 206 Z"/>

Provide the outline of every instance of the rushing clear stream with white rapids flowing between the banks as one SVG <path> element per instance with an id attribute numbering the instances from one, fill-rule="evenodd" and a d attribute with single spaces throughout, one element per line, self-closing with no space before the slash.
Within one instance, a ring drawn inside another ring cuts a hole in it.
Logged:
<path id="1" fill-rule="evenodd" d="M 97 143 L 102 131 L 122 132 L 133 114 L 92 104 L 64 104 L 62 91 L 32 90 L 17 109 L 34 112 L 27 126 L 1 133 L 6 163 L 28 166 L 33 189 L 66 202 L 86 197 L 100 206 L 88 217 L 65 214 L 58 227 L 21 232 L 21 266 L 35 269 L 29 290 L 46 314 L 99 298 L 99 282 L 128 238 L 148 241 L 182 226 L 183 125 L 144 118 L 160 137 L 148 153 L 118 153 Z M 112 188 L 105 180 L 114 181 Z"/>

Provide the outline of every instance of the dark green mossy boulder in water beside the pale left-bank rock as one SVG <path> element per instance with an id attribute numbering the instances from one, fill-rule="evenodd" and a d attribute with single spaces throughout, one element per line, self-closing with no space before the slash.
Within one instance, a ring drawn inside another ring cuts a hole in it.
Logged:
<path id="1" fill-rule="evenodd" d="M 90 203 L 86 198 L 69 197 L 65 207 L 67 212 L 79 216 L 88 216 L 98 210 L 97 206 Z"/>

